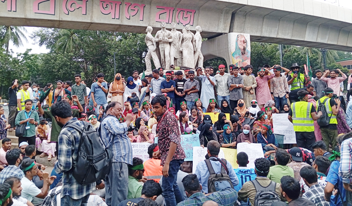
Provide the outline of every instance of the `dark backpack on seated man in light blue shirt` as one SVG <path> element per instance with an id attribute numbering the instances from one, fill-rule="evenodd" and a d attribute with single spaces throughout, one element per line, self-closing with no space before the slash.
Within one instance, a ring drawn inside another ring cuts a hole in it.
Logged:
<path id="1" fill-rule="evenodd" d="M 221 163 L 221 172 L 215 173 L 210 163 L 211 158 L 213 161 L 219 161 Z M 226 188 L 234 188 L 229 176 L 229 169 L 226 166 L 226 159 L 211 158 L 204 160 L 210 174 L 208 177 L 208 193 L 224 190 Z"/>

